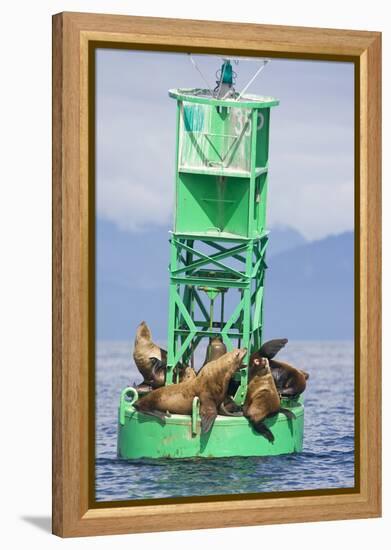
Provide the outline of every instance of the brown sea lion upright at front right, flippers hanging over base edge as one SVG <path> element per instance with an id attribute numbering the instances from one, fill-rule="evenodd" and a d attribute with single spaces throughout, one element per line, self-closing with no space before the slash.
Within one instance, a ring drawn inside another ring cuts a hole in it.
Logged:
<path id="1" fill-rule="evenodd" d="M 249 367 L 249 384 L 243 405 L 243 415 L 249 420 L 255 431 L 272 443 L 274 435 L 263 421 L 278 412 L 283 412 L 288 418 L 295 417 L 288 409 L 281 408 L 280 396 L 268 359 L 256 357 Z"/>

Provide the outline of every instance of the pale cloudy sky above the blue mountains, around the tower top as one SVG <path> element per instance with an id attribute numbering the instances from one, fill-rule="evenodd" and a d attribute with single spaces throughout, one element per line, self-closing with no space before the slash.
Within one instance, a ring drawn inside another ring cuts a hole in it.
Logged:
<path id="1" fill-rule="evenodd" d="M 217 56 L 194 56 L 211 86 Z M 260 66 L 240 61 L 236 89 Z M 168 89 L 204 87 L 187 54 L 98 50 L 97 218 L 129 234 L 171 225 L 175 100 Z M 268 225 L 308 240 L 354 224 L 354 67 L 274 59 L 248 89 L 274 96 Z"/>

